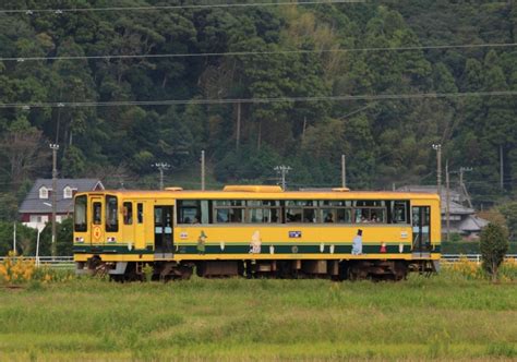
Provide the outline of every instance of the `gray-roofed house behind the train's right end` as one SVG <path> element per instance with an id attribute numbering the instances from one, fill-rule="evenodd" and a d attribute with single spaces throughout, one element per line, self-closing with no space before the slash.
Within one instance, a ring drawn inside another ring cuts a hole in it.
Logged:
<path id="1" fill-rule="evenodd" d="M 408 192 L 429 192 L 437 193 L 437 188 L 422 186 L 422 185 L 407 185 L 398 189 L 399 191 Z M 447 190 L 442 188 L 442 232 L 447 232 Z M 476 215 L 476 210 L 471 207 L 465 206 L 468 203 L 468 195 L 461 192 L 461 189 L 449 189 L 449 232 L 458 233 L 465 239 L 478 239 L 481 229 L 484 228 L 489 221 Z"/>

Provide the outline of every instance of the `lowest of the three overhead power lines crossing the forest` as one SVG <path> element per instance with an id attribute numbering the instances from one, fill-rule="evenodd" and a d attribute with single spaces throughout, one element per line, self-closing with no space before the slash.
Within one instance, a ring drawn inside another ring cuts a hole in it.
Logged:
<path id="1" fill-rule="evenodd" d="M 467 93 L 416 93 L 380 95 L 344 95 L 315 97 L 264 97 L 264 98 L 216 98 L 216 99 L 169 99 L 169 100 L 113 100 L 113 101 L 61 101 L 38 104 L 0 104 L 0 108 L 53 108 L 53 107 L 124 107 L 124 106 L 175 106 L 175 105 L 228 105 L 228 104 L 272 104 L 282 101 L 337 101 L 337 100 L 394 100 L 423 98 L 466 98 L 466 97 L 510 97 L 517 90 L 467 92 Z"/>

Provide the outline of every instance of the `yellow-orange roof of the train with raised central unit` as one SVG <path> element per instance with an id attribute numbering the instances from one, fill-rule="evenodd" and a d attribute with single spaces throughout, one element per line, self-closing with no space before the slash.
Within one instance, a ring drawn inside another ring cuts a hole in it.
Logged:
<path id="1" fill-rule="evenodd" d="M 227 198 L 243 198 L 243 200 L 256 200 L 256 198 L 278 198 L 278 200 L 438 200 L 438 195 L 435 193 L 425 192 L 400 192 L 400 191 L 350 191 L 348 189 L 328 189 L 328 190 L 302 190 L 302 191 L 282 191 L 279 186 L 226 186 L 224 190 L 182 190 L 181 188 L 167 188 L 163 191 L 157 190 L 104 190 L 104 191 L 92 191 L 81 194 L 115 194 L 124 197 L 143 197 L 143 198 L 155 198 L 155 197 L 167 197 L 167 198 L 214 198 L 214 200 L 227 200 Z M 81 195 L 77 193 L 77 195 Z"/>

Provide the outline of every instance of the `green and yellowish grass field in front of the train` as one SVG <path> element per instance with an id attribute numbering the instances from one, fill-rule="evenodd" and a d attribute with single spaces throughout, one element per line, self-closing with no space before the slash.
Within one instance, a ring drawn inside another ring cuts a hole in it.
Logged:
<path id="1" fill-rule="evenodd" d="M 0 360 L 515 360 L 517 285 L 75 279 L 0 289 Z"/>

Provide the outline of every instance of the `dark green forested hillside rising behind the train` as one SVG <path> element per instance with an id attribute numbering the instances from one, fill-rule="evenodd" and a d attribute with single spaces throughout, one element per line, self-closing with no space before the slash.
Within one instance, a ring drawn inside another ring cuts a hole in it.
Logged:
<path id="1" fill-rule="evenodd" d="M 192 3 L 221 2 L 1 2 L 2 217 L 50 176 L 49 142 L 62 177 L 115 188 L 156 188 L 156 161 L 176 184 L 205 149 L 211 182 L 270 183 L 288 165 L 291 188 L 339 185 L 346 154 L 353 189 L 433 184 L 441 143 L 452 171 L 472 167 L 478 203 L 514 193 L 513 1 Z M 183 7 L 99 10 L 149 5 Z M 4 11 L 25 9 L 63 11 Z"/>

